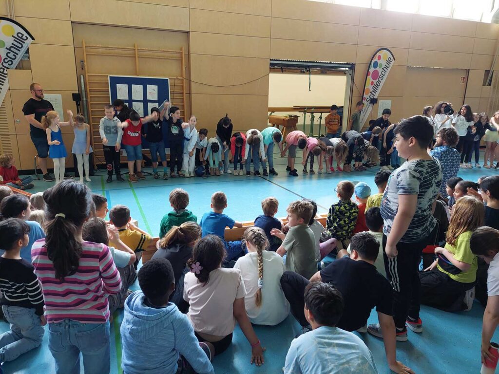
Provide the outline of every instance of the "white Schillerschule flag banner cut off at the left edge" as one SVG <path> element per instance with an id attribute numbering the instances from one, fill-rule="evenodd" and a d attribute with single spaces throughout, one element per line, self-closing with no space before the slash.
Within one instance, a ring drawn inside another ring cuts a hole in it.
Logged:
<path id="1" fill-rule="evenodd" d="M 7 70 L 17 66 L 33 40 L 33 35 L 20 23 L 0 17 L 0 105 L 8 90 Z"/>

